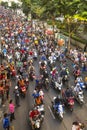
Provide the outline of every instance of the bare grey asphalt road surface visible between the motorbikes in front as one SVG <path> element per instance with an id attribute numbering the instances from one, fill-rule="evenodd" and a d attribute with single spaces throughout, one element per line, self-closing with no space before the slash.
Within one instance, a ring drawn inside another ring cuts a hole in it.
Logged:
<path id="1" fill-rule="evenodd" d="M 72 62 L 67 60 L 68 67 L 70 69 L 70 84 L 73 85 L 74 77 L 72 75 Z M 34 62 L 34 66 L 36 68 L 36 73 L 39 73 L 38 61 Z M 57 62 L 57 66 L 60 66 L 60 63 Z M 60 70 L 60 67 L 59 67 Z M 83 76 L 87 75 L 87 73 L 83 74 Z M 12 87 L 10 89 L 10 98 L 14 100 L 13 89 L 15 86 L 15 81 L 12 80 Z M 20 107 L 15 109 L 15 117 L 11 123 L 13 130 L 30 130 L 28 124 L 28 112 L 33 106 L 33 97 L 32 93 L 34 90 L 35 82 L 30 82 L 29 88 L 26 94 L 26 97 L 20 99 Z M 66 86 L 64 86 L 66 87 Z M 85 92 L 85 104 L 81 107 L 77 102 L 75 102 L 74 111 L 71 113 L 68 108 L 64 108 L 64 119 L 60 122 L 55 118 L 51 111 L 51 100 L 54 96 L 58 95 L 58 92 L 53 90 L 52 88 L 49 91 L 44 90 L 45 93 L 45 119 L 42 124 L 41 130 L 71 130 L 72 122 L 75 120 L 82 121 L 86 123 L 87 120 L 87 92 Z M 8 101 L 7 101 L 8 102 Z M 8 104 L 8 103 L 7 103 Z M 0 123 L 0 130 L 3 130 L 2 123 Z"/>

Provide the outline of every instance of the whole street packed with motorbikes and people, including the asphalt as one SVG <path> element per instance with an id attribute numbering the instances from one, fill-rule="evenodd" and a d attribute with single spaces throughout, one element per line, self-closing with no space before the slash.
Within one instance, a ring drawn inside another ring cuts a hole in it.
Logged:
<path id="1" fill-rule="evenodd" d="M 37 26 L 0 7 L 0 129 L 86 130 L 87 52 Z"/>

